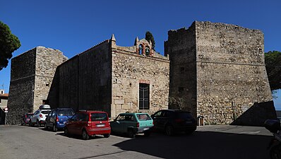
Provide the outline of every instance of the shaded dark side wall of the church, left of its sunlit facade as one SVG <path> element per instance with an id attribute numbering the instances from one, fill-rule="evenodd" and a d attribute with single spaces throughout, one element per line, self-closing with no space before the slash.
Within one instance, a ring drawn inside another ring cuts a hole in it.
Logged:
<path id="1" fill-rule="evenodd" d="M 111 54 L 109 40 L 76 55 L 56 70 L 48 95 L 56 107 L 78 111 L 102 110 L 110 114 Z"/>

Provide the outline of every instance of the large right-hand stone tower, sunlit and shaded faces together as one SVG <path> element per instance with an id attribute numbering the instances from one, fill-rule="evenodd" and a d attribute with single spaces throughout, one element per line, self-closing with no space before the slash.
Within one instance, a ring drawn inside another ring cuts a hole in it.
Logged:
<path id="1" fill-rule="evenodd" d="M 272 100 L 260 30 L 195 21 L 169 31 L 165 54 L 171 59 L 170 97 L 183 95 L 191 105 L 185 109 L 196 110 L 205 124 L 230 124 L 254 103 Z M 262 115 L 274 118 L 271 108 Z"/>

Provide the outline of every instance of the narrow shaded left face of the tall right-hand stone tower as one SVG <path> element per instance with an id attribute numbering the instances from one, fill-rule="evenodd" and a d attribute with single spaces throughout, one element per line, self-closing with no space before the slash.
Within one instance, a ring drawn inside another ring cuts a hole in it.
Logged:
<path id="1" fill-rule="evenodd" d="M 195 23 L 186 30 L 170 30 L 165 54 L 170 59 L 169 108 L 192 112 L 196 117 L 196 32 Z"/>

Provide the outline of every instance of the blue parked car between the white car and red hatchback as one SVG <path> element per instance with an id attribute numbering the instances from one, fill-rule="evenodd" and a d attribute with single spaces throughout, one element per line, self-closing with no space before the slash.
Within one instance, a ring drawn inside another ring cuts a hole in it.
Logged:
<path id="1" fill-rule="evenodd" d="M 74 112 L 71 108 L 56 108 L 47 115 L 44 128 L 49 129 L 52 127 L 54 132 L 58 129 L 64 129 L 65 123 L 73 114 Z"/>

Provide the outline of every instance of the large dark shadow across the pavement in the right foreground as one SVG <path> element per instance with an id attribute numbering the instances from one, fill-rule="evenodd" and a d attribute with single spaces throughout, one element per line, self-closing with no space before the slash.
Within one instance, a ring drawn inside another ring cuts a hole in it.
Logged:
<path id="1" fill-rule="evenodd" d="M 270 139 L 270 136 L 196 131 L 189 136 L 138 136 L 114 146 L 159 158 L 266 159 Z"/>

